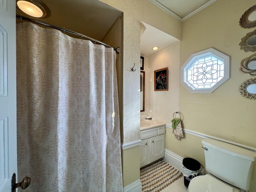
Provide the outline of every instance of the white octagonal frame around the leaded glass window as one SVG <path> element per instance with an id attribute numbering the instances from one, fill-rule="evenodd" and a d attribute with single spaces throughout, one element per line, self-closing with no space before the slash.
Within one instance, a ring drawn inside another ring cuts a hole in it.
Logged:
<path id="1" fill-rule="evenodd" d="M 224 75 L 223 77 L 216 82 L 211 88 L 195 88 L 188 82 L 188 70 L 191 66 L 195 64 L 195 62 L 202 58 L 207 58 L 209 56 L 214 56 L 220 60 L 223 60 L 224 64 Z M 196 52 L 191 54 L 191 56 L 186 60 L 180 70 L 180 82 L 181 84 L 187 88 L 191 93 L 212 93 L 219 86 L 221 86 L 226 80 L 229 79 L 229 66 L 230 66 L 230 57 L 215 50 L 214 48 L 208 48 L 206 50 L 202 50 L 200 52 Z"/>

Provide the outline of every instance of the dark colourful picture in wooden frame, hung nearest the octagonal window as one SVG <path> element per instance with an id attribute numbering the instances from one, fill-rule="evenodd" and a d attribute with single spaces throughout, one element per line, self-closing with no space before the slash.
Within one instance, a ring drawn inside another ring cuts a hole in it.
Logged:
<path id="1" fill-rule="evenodd" d="M 168 90 L 168 67 L 154 71 L 154 90 Z"/>

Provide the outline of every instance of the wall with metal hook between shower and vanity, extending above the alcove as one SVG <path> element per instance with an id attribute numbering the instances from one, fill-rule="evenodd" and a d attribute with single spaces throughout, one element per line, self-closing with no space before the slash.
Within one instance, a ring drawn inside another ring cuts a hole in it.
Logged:
<path id="1" fill-rule="evenodd" d="M 100 0 L 123 14 L 123 143 L 140 139 L 140 21 L 181 39 L 181 23 L 147 0 Z M 122 30 L 122 24 L 121 24 Z M 122 35 L 121 34 L 121 35 Z M 136 71 L 131 68 L 135 63 Z M 140 178 L 138 147 L 126 149 L 123 157 L 124 186 Z"/>

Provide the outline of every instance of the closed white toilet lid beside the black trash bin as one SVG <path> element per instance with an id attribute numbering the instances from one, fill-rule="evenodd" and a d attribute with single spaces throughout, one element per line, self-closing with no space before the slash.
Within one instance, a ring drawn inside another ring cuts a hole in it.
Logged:
<path id="1" fill-rule="evenodd" d="M 239 192 L 240 190 L 208 174 L 194 177 L 188 192 Z"/>

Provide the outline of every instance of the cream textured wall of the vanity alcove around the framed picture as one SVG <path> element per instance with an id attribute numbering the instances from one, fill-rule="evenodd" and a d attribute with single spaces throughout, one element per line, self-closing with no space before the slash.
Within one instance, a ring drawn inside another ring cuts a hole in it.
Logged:
<path id="1" fill-rule="evenodd" d="M 173 113 L 179 110 L 180 43 L 176 43 L 149 57 L 148 114 L 152 118 L 172 124 Z M 154 70 L 168 67 L 168 91 L 154 91 Z M 152 81 L 150 81 L 152 80 Z M 167 137 L 169 135 L 166 135 Z"/>

